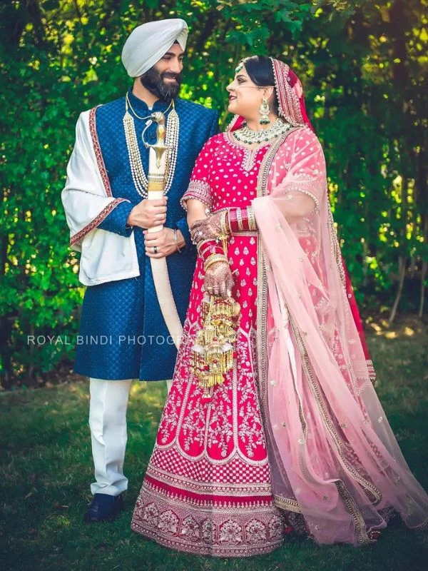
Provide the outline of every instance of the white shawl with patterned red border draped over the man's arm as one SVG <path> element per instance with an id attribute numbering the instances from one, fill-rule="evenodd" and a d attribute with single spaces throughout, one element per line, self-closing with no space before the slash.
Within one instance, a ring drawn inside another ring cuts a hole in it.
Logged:
<path id="1" fill-rule="evenodd" d="M 78 278 L 83 285 L 140 275 L 134 233 L 126 237 L 97 228 L 118 203 L 130 201 L 111 194 L 96 135 L 95 108 L 78 118 L 61 200 L 70 228 L 70 246 L 81 252 Z"/>

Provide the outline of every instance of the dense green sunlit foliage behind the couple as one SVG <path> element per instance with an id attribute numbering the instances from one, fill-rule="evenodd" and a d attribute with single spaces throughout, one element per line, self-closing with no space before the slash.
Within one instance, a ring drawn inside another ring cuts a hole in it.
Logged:
<path id="1" fill-rule="evenodd" d="M 181 96 L 229 117 L 237 61 L 287 61 L 325 148 L 335 219 L 368 309 L 422 315 L 427 276 L 427 0 L 14 0 L 0 46 L 1 375 L 43 381 L 73 357 L 83 288 L 61 206 L 78 113 L 122 96 L 136 25 L 190 26 Z M 44 345 L 28 335 L 52 335 Z M 58 335 L 62 335 L 58 341 Z"/>

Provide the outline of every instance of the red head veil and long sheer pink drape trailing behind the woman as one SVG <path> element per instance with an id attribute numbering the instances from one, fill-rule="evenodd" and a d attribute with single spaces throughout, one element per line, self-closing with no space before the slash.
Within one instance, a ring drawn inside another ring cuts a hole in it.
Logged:
<path id="1" fill-rule="evenodd" d="M 370 380 L 302 84 L 289 66 L 272 65 L 280 116 L 292 126 L 272 159 L 267 196 L 253 201 L 267 279 L 259 376 L 272 490 L 317 542 L 364 544 L 393 510 L 409 527 L 427 526 L 428 497 Z"/>

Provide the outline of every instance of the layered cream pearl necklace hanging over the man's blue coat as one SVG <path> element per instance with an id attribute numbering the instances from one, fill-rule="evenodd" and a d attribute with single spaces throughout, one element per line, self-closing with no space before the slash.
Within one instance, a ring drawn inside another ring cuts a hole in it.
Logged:
<path id="1" fill-rule="evenodd" d="M 171 107 L 172 109 L 168 114 L 168 118 L 166 120 L 165 145 L 168 146 L 168 151 L 166 155 L 166 168 L 165 168 L 166 181 L 164 187 L 165 190 L 163 191 L 164 194 L 168 193 L 173 183 L 175 166 L 177 164 L 178 137 L 180 135 L 180 118 L 178 117 L 177 111 L 175 111 L 174 101 L 170 102 L 170 105 L 166 109 L 165 114 L 169 111 Z M 125 115 L 123 116 L 123 128 L 125 130 L 126 146 L 128 148 L 129 164 L 131 166 L 131 175 L 138 194 L 143 198 L 147 198 L 148 196 L 147 175 L 146 172 L 144 171 L 143 162 L 141 161 L 140 149 L 138 148 L 135 121 L 133 116 L 129 112 L 129 109 L 131 109 L 133 115 L 136 116 L 136 118 L 141 120 L 151 119 L 151 114 L 146 117 L 138 116 L 136 111 L 134 111 L 133 107 L 131 106 L 131 101 L 129 101 L 128 94 L 126 94 Z M 151 123 L 148 123 L 146 128 L 150 126 L 150 124 Z M 146 128 L 143 130 L 142 138 L 144 146 L 147 147 L 148 145 L 144 140 L 144 131 L 146 131 Z"/>

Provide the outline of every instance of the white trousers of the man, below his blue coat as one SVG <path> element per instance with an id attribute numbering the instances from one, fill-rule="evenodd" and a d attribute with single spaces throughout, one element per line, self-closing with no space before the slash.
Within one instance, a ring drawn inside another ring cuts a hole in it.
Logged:
<path id="1" fill-rule="evenodd" d="M 119 495 L 128 488 L 123 462 L 128 440 L 126 409 L 131 383 L 132 379 L 89 378 L 89 428 L 96 480 L 91 484 L 93 494 Z M 171 381 L 167 380 L 168 392 L 170 385 Z"/>

